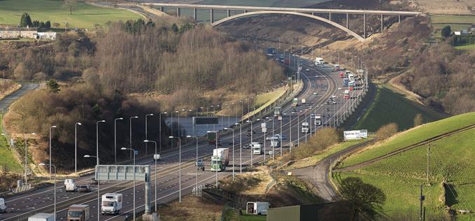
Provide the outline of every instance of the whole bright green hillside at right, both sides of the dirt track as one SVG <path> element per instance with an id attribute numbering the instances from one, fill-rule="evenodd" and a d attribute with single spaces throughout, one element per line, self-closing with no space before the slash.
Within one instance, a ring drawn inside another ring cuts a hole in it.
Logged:
<path id="1" fill-rule="evenodd" d="M 393 150 L 418 143 L 426 138 L 453 131 L 475 123 L 475 113 L 450 117 L 416 129 L 398 134 L 388 141 L 348 157 L 343 167 L 374 159 Z M 475 129 L 434 141 L 430 147 L 430 186 L 424 186 L 427 215 L 444 214 L 444 189 L 442 180 L 450 188 L 445 193 L 446 204 L 458 210 L 474 210 L 475 173 L 473 143 Z M 420 146 L 399 155 L 383 159 L 350 172 L 337 174 L 343 179 L 349 176 L 362 178 L 364 182 L 381 188 L 387 196 L 383 211 L 388 215 L 397 213 L 417 213 L 419 185 L 426 183 L 427 146 Z M 473 220 L 475 215 L 458 215 L 458 220 Z"/>

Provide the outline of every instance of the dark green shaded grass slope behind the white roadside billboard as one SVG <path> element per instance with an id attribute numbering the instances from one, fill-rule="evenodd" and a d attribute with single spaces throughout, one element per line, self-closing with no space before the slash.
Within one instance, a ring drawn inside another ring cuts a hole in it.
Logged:
<path id="1" fill-rule="evenodd" d="M 374 102 L 358 120 L 353 129 L 368 129 L 376 131 L 379 127 L 390 122 L 399 125 L 399 130 L 413 127 L 414 117 L 420 113 L 424 122 L 439 120 L 442 116 L 414 101 L 406 99 L 404 95 L 390 90 L 384 85 L 378 85 Z"/>

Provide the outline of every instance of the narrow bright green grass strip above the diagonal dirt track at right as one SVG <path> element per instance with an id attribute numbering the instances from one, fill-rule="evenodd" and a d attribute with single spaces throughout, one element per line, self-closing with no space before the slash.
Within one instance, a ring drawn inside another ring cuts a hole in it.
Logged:
<path id="1" fill-rule="evenodd" d="M 404 148 L 413 143 L 418 143 L 427 138 L 432 138 L 448 131 L 454 131 L 470 124 L 475 124 L 474 112 L 448 117 L 444 120 L 439 120 L 429 124 L 423 124 L 416 129 L 411 129 L 409 131 L 404 131 L 402 134 L 397 134 L 396 136 L 390 138 L 390 140 L 378 145 L 377 148 L 370 148 L 358 155 L 352 155 L 348 157 L 348 159 L 343 162 L 341 167 L 365 162 L 369 159 L 374 159 L 389 152 L 399 150 L 400 148 Z"/>

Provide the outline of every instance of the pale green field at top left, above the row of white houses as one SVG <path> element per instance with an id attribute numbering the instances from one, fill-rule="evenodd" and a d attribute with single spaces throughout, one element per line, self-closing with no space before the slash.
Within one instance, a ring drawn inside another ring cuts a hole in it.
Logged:
<path id="1" fill-rule="evenodd" d="M 73 15 L 62 6 L 60 0 L 3 0 L 0 1 L 0 24 L 18 25 L 22 13 L 29 13 L 31 20 L 57 22 L 64 28 L 93 28 L 94 24 L 103 25 L 107 21 L 136 20 L 139 15 L 127 10 L 114 10 L 89 6 L 83 2 L 76 4 Z"/>

